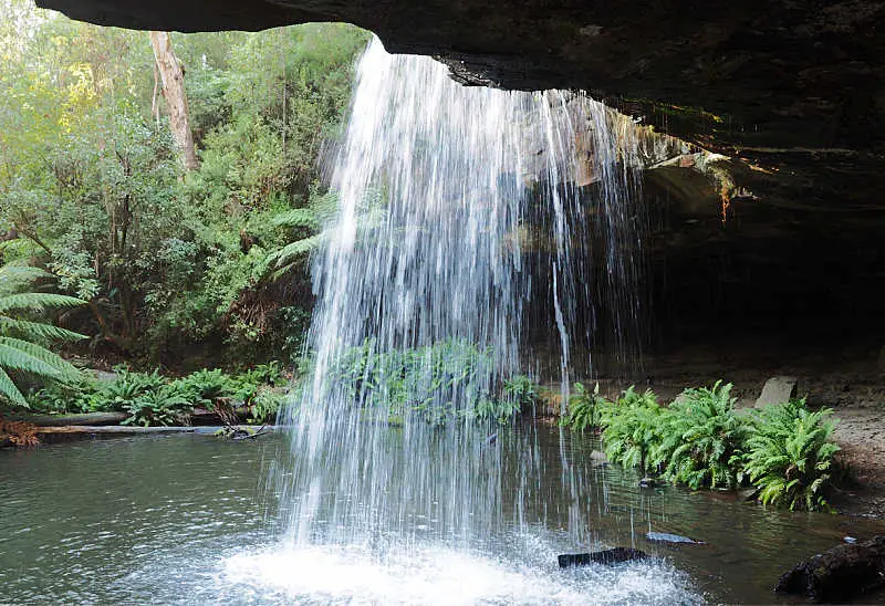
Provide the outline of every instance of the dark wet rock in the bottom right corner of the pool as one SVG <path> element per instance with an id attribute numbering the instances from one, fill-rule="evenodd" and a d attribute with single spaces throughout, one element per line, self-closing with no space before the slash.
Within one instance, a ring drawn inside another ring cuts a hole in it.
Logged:
<path id="1" fill-rule="evenodd" d="M 844 544 L 800 562 L 784 573 L 775 592 L 814 602 L 846 602 L 885 587 L 885 534 Z"/>

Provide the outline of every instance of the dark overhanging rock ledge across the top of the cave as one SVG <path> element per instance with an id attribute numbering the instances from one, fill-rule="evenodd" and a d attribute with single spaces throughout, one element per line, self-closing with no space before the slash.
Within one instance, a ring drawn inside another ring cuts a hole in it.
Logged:
<path id="1" fill-rule="evenodd" d="M 884 0 L 38 0 L 137 29 L 346 21 L 470 84 L 583 88 L 729 155 L 882 159 Z"/>

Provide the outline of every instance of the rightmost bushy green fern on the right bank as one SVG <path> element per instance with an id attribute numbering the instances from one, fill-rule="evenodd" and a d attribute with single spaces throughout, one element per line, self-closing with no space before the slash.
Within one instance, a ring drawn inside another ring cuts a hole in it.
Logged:
<path id="1" fill-rule="evenodd" d="M 757 414 L 756 431 L 747 440 L 746 470 L 760 489 L 764 504 L 790 510 L 829 510 L 825 492 L 831 483 L 833 457 L 832 410 L 815 412 L 805 400 L 770 406 Z"/>

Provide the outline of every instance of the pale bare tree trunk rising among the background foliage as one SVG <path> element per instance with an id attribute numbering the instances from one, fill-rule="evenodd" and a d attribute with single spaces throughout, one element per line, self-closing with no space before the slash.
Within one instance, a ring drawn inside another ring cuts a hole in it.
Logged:
<path id="1" fill-rule="evenodd" d="M 169 32 L 150 32 L 150 44 L 154 46 L 154 59 L 157 60 L 157 70 L 163 83 L 163 97 L 169 112 L 169 125 L 181 152 L 181 163 L 185 169 L 194 170 L 198 163 L 187 113 L 185 71 L 173 52 Z"/>

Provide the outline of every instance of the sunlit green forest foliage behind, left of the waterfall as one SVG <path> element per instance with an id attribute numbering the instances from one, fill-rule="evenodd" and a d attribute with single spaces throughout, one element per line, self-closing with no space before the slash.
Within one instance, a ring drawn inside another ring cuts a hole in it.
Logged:
<path id="1" fill-rule="evenodd" d="M 146 32 L 7 9 L 19 25 L 0 23 L 2 259 L 33 259 L 88 301 L 71 318 L 103 357 L 294 358 L 305 260 L 336 207 L 316 160 L 367 32 L 174 34 L 201 160 L 184 175 Z"/>

